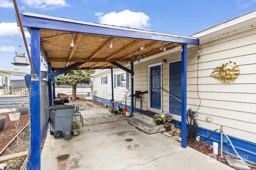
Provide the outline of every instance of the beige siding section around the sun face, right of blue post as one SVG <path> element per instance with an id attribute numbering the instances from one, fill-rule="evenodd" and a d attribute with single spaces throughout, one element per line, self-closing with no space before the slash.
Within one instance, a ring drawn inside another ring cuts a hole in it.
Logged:
<path id="1" fill-rule="evenodd" d="M 187 108 L 198 109 L 199 94 L 201 104 L 197 120 L 200 127 L 214 130 L 223 125 L 224 133 L 256 143 L 255 49 L 256 29 L 202 44 L 198 72 L 197 47 L 188 49 Z M 210 77 L 214 68 L 226 61 L 238 65 L 238 78 L 221 83 Z M 206 122 L 206 117 L 212 121 Z"/>

